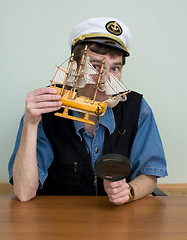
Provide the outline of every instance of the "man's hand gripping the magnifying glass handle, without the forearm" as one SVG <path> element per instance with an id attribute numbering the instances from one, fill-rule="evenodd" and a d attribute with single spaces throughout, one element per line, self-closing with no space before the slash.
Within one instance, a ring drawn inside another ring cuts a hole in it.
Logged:
<path id="1" fill-rule="evenodd" d="M 109 201 L 115 205 L 122 205 L 129 200 L 129 185 L 125 179 L 117 182 L 104 180 L 104 189 L 108 194 Z"/>

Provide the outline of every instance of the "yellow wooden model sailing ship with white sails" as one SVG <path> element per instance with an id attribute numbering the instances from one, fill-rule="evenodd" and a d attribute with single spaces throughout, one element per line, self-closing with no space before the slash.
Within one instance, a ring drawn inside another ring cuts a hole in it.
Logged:
<path id="1" fill-rule="evenodd" d="M 67 70 L 64 70 L 61 66 L 56 66 L 50 87 L 57 89 L 57 94 L 61 95 L 60 101 L 64 111 L 63 113 L 56 112 L 55 115 L 94 125 L 95 123 L 89 120 L 90 114 L 103 116 L 107 106 L 112 108 L 119 101 L 126 101 L 126 95 L 130 91 L 111 73 L 108 79 L 108 71 L 109 66 L 106 57 L 103 58 L 100 72 L 93 67 L 89 61 L 87 46 L 84 49 L 80 64 L 74 60 L 74 54 L 72 53 Z M 86 84 L 96 86 L 93 99 L 78 95 L 77 90 L 84 88 Z M 96 101 L 98 91 L 105 92 L 108 99 L 103 102 Z M 69 109 L 84 113 L 84 117 L 79 118 L 69 115 Z"/>

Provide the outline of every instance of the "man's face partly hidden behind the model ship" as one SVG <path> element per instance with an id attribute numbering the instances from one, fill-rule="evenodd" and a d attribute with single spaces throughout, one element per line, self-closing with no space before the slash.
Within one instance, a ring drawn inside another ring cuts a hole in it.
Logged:
<path id="1" fill-rule="evenodd" d="M 90 49 L 87 50 L 87 53 L 90 57 L 90 62 L 93 65 L 93 67 L 98 72 L 100 72 L 104 55 L 92 52 Z M 109 65 L 109 72 L 107 74 L 108 79 L 109 73 L 112 73 L 120 81 L 123 68 L 122 56 L 116 56 L 111 58 L 109 54 L 106 54 L 106 62 Z M 78 93 L 79 95 L 93 98 L 95 93 L 95 87 L 96 85 L 94 84 L 87 84 L 84 88 L 80 88 Z M 105 92 L 101 92 L 98 89 L 96 100 L 102 102 L 105 101 L 106 99 L 108 99 L 108 96 L 105 94 Z"/>

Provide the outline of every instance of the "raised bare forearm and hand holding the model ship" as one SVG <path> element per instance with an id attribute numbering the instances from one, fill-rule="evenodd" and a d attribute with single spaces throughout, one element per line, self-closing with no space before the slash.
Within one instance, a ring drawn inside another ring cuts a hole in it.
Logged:
<path id="1" fill-rule="evenodd" d="M 19 149 L 13 165 L 14 193 L 26 202 L 36 196 L 38 165 L 36 157 L 37 130 L 43 113 L 61 108 L 61 96 L 50 87 L 29 92 L 25 100 L 25 117 Z"/>

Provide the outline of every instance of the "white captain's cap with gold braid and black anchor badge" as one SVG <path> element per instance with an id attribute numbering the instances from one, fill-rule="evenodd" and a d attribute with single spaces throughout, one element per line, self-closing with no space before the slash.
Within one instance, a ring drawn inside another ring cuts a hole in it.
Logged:
<path id="1" fill-rule="evenodd" d="M 75 26 L 70 33 L 72 50 L 80 42 L 98 42 L 123 50 L 128 57 L 131 32 L 116 18 L 90 18 Z"/>

